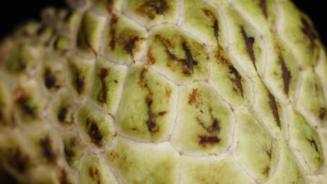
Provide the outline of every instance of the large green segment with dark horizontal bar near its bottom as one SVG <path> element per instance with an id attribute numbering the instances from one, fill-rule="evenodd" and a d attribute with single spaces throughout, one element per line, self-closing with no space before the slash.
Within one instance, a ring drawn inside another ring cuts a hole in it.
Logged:
<path id="1" fill-rule="evenodd" d="M 208 84 L 180 87 L 177 121 L 171 143 L 189 155 L 219 154 L 231 143 L 233 117 Z"/>

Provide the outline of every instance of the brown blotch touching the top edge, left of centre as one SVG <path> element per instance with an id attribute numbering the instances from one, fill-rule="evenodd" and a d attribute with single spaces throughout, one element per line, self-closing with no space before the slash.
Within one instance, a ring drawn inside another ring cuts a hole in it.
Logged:
<path id="1" fill-rule="evenodd" d="M 145 15 L 150 20 L 153 20 L 156 15 L 162 15 L 168 9 L 165 0 L 147 0 L 136 8 L 135 13 Z"/>

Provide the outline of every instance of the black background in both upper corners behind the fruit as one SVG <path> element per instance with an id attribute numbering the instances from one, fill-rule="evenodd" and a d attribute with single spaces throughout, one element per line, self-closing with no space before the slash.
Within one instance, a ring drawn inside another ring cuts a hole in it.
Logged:
<path id="1" fill-rule="evenodd" d="M 250 0 L 249 0 L 250 1 Z M 32 2 L 32 3 L 31 3 Z M 323 43 L 327 45 L 325 1 L 293 0 L 296 5 L 311 17 Z M 64 0 L 5 0 L 0 3 L 0 38 L 6 36 L 19 23 L 38 20 L 40 12 L 47 6 L 65 7 Z"/>

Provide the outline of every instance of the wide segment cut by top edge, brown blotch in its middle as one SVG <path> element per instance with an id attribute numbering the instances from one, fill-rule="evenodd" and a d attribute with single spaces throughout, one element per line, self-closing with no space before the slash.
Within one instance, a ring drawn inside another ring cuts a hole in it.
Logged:
<path id="1" fill-rule="evenodd" d="M 150 28 L 166 22 L 175 24 L 179 5 L 176 0 L 128 0 L 124 2 L 123 10 L 136 22 Z"/>

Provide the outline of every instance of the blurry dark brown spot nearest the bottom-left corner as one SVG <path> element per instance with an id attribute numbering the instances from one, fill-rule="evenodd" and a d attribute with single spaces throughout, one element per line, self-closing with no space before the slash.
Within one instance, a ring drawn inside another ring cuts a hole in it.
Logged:
<path id="1" fill-rule="evenodd" d="M 9 148 L 5 157 L 10 167 L 19 173 L 22 174 L 27 171 L 30 164 L 29 156 L 22 153 L 19 148 Z"/>

